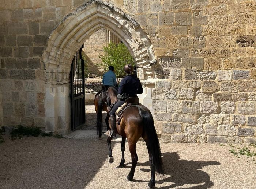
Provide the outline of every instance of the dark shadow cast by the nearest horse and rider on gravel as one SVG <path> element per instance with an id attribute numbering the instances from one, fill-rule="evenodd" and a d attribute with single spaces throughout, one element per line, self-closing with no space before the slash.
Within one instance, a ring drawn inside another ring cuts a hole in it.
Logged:
<path id="1" fill-rule="evenodd" d="M 210 176 L 203 172 L 202 169 L 204 166 L 208 165 L 220 165 L 217 161 L 188 161 L 188 160 L 180 160 L 177 152 L 166 152 L 162 153 L 162 161 L 166 171 L 166 177 L 156 181 L 158 184 L 162 184 L 165 182 L 172 182 L 169 186 L 163 186 L 159 189 L 170 189 L 174 187 L 180 187 L 184 185 L 194 185 L 193 187 L 185 187 L 186 189 L 207 189 L 214 185 L 212 181 L 210 181 Z M 126 164 L 126 168 L 131 168 L 129 165 L 131 163 Z M 127 166 L 129 165 L 129 166 Z M 150 162 L 147 161 L 145 163 L 138 163 L 137 166 L 147 166 L 148 168 L 141 168 L 141 171 L 151 172 Z M 148 182 L 142 180 L 133 180 L 134 182 Z M 197 184 L 197 186 L 195 186 Z"/>

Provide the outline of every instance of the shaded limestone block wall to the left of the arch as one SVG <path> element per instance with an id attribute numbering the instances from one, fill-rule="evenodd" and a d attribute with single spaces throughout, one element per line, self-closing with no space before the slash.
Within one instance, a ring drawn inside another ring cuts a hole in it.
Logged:
<path id="1" fill-rule="evenodd" d="M 41 56 L 50 32 L 65 15 L 82 3 L 79 0 L 1 1 L 1 126 L 24 125 L 47 129 L 52 123 L 49 122 L 52 115 L 47 117 L 50 109 L 46 111 L 47 81 Z M 62 114 L 58 113 L 55 119 L 62 120 Z"/>

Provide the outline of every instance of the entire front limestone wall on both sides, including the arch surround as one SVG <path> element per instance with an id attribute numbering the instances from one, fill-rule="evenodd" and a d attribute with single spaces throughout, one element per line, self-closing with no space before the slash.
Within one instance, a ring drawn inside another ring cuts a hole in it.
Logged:
<path id="1" fill-rule="evenodd" d="M 132 53 L 162 142 L 256 142 L 255 18 L 255 0 L 4 1 L 0 124 L 70 132 L 72 59 L 105 28 Z"/>

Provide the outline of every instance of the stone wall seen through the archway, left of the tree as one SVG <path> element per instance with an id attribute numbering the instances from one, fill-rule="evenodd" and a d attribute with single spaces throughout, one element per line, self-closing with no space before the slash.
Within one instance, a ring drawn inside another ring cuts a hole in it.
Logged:
<path id="1" fill-rule="evenodd" d="M 99 69 L 102 63 L 99 56 L 103 55 L 103 47 L 106 46 L 106 29 L 99 29 L 92 34 L 85 42 L 83 51 L 86 56 L 89 73 L 103 75 L 103 69 Z"/>

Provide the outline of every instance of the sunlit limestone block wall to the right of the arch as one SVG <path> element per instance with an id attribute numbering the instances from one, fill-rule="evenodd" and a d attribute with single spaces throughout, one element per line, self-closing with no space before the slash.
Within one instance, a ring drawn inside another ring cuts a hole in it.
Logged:
<path id="1" fill-rule="evenodd" d="M 118 4 L 120 1 L 114 1 Z M 164 80 L 152 88 L 162 142 L 256 142 L 256 2 L 124 0 Z"/>

